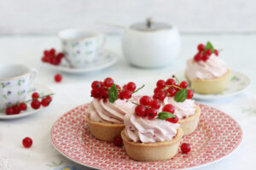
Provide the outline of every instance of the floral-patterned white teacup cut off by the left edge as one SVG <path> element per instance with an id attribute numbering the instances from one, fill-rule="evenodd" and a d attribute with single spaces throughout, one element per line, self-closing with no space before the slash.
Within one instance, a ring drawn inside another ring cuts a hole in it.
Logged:
<path id="1" fill-rule="evenodd" d="M 0 110 L 25 101 L 37 77 L 38 71 L 25 65 L 0 65 Z"/>

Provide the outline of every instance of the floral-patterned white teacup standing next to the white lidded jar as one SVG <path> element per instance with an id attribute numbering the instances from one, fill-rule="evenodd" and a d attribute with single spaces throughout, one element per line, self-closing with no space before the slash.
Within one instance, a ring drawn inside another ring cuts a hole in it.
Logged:
<path id="1" fill-rule="evenodd" d="M 73 68 L 90 64 L 102 48 L 104 37 L 81 28 L 67 29 L 59 33 L 65 58 Z"/>

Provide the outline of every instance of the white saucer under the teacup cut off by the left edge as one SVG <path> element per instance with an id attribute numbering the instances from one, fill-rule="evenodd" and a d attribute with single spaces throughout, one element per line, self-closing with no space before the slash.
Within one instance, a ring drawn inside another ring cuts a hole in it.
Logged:
<path id="1" fill-rule="evenodd" d="M 29 93 L 26 96 L 26 100 L 32 99 L 31 96 L 32 96 L 32 93 L 34 93 L 34 92 L 38 92 L 38 94 L 40 94 L 40 96 L 52 94 L 52 91 L 49 88 L 36 83 L 34 85 L 34 87 L 29 90 Z M 20 111 L 20 114 L 17 114 L 17 115 L 6 115 L 4 112 L 0 112 L 0 119 L 16 119 L 16 118 L 21 118 L 21 117 L 25 117 L 25 116 L 30 116 L 34 113 L 37 113 L 38 111 L 43 111 L 46 108 L 48 108 L 48 107 L 43 107 L 41 105 L 41 107 L 38 110 L 34 110 L 31 108 L 30 104 L 27 104 L 26 111 Z"/>

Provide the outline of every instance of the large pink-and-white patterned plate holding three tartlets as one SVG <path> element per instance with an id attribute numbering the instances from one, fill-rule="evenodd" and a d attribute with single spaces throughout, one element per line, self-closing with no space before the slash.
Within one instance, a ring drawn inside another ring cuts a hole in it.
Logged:
<path id="1" fill-rule="evenodd" d="M 85 121 L 87 105 L 61 116 L 51 130 L 51 139 L 63 156 L 86 167 L 97 169 L 179 169 L 199 167 L 218 161 L 236 150 L 241 143 L 239 124 L 222 111 L 200 104 L 199 127 L 182 142 L 192 146 L 189 154 L 177 153 L 169 161 L 133 161 L 125 154 L 125 148 L 102 142 L 91 136 Z"/>

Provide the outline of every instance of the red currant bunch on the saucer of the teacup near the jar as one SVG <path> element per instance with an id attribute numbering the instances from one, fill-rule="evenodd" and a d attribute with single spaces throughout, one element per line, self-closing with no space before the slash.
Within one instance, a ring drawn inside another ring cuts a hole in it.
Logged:
<path id="1" fill-rule="evenodd" d="M 49 50 L 44 50 L 44 56 L 42 57 L 42 61 L 51 65 L 60 65 L 61 59 L 63 59 L 63 57 L 64 54 L 57 54 L 55 53 L 55 48 L 51 48 Z"/>

